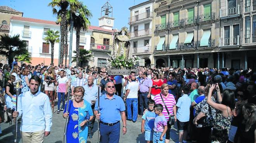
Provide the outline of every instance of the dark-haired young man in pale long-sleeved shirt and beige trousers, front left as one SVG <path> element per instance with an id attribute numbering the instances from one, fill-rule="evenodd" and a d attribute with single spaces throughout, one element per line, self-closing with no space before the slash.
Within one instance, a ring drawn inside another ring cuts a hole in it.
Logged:
<path id="1" fill-rule="evenodd" d="M 38 76 L 29 79 L 30 91 L 20 94 L 17 111 L 12 114 L 15 118 L 22 115 L 20 130 L 23 143 L 43 143 L 44 136 L 50 134 L 52 110 L 48 96 L 38 90 L 40 82 Z"/>

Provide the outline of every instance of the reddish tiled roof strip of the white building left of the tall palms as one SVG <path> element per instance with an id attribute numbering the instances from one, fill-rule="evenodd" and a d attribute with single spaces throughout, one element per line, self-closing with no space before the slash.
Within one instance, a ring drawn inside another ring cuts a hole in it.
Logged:
<path id="1" fill-rule="evenodd" d="M 50 21 L 50 20 L 42 20 L 42 19 L 31 19 L 31 18 L 26 18 L 26 17 L 16 17 L 12 16 L 10 20 L 17 20 L 17 21 L 25 21 L 25 22 L 34 22 L 34 23 L 39 23 L 39 24 L 49 24 L 49 25 L 60 25 L 56 24 L 55 21 Z"/>

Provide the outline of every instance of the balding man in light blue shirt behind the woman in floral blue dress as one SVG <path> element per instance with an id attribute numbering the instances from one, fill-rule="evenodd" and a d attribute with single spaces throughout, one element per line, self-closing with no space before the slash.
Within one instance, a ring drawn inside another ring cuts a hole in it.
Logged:
<path id="1" fill-rule="evenodd" d="M 84 85 L 85 93 L 83 99 L 91 104 L 92 111 L 95 108 L 95 102 L 98 96 L 98 86 L 93 84 L 94 77 L 92 75 L 88 76 L 88 84 Z M 92 138 L 93 136 L 93 125 L 95 122 L 95 116 L 93 116 L 92 121 L 90 121 L 89 129 L 88 129 L 88 138 Z"/>

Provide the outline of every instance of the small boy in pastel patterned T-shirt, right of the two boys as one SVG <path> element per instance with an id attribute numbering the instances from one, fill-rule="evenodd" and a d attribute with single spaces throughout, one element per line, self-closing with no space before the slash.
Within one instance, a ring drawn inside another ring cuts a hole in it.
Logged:
<path id="1" fill-rule="evenodd" d="M 153 143 L 164 143 L 165 133 L 167 131 L 167 120 L 164 117 L 162 104 L 156 104 L 154 106 L 155 113 L 158 115 L 154 122 L 154 133 L 153 133 Z"/>

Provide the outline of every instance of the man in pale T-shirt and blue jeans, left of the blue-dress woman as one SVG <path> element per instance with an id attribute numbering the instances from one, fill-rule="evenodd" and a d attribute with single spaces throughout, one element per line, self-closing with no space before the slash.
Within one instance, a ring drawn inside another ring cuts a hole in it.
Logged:
<path id="1" fill-rule="evenodd" d="M 57 79 L 57 82 L 55 83 L 56 85 L 59 86 L 57 114 L 59 114 L 60 111 L 64 111 L 65 95 L 67 94 L 67 87 L 68 87 L 68 79 L 67 79 L 67 77 L 64 76 L 64 70 L 61 70 L 60 76 L 61 77 L 59 79 Z M 60 109 L 61 101 L 62 101 L 62 108 Z"/>

